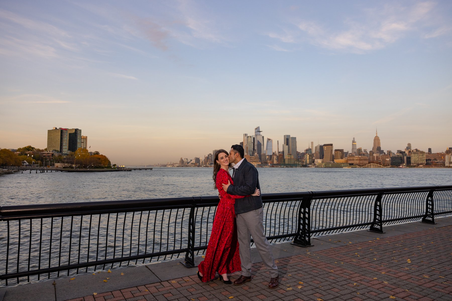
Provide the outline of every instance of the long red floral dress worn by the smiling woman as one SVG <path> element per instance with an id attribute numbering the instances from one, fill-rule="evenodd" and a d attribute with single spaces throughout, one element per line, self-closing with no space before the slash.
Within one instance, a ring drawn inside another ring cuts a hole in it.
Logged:
<path id="1" fill-rule="evenodd" d="M 217 173 L 217 189 L 220 193 L 220 203 L 212 224 L 206 257 L 198 264 L 202 274 L 202 282 L 208 282 L 219 275 L 240 271 L 239 242 L 237 241 L 237 227 L 235 225 L 235 199 L 245 196 L 231 195 L 223 190 L 221 184 L 232 181 L 229 172 L 220 168 Z"/>

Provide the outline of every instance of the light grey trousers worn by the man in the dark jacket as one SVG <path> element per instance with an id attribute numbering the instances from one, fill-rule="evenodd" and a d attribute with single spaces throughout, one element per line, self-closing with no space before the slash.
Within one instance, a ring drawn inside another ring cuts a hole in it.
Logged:
<path id="1" fill-rule="evenodd" d="M 251 238 L 259 252 L 260 258 L 270 273 L 270 278 L 278 277 L 278 268 L 273 259 L 270 244 L 264 234 L 264 208 L 237 214 L 237 239 L 239 241 L 242 275 L 251 276 Z"/>

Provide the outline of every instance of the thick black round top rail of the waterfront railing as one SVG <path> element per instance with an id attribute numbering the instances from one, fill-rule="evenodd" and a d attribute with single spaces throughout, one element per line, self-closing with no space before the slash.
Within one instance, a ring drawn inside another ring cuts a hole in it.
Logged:
<path id="1" fill-rule="evenodd" d="M 353 190 L 325 190 L 288 193 L 262 194 L 264 203 L 288 201 L 301 198 L 334 198 L 358 195 L 376 195 L 404 192 L 424 192 L 430 190 L 451 190 L 452 185 L 433 185 L 418 187 L 391 187 Z M 216 206 L 218 196 L 200 196 L 183 198 L 135 199 L 118 201 L 95 201 L 62 204 L 14 205 L 0 207 L 0 220 L 51 218 L 100 213 L 121 213 L 147 210 L 163 210 L 170 208 L 190 208 L 193 206 Z"/>

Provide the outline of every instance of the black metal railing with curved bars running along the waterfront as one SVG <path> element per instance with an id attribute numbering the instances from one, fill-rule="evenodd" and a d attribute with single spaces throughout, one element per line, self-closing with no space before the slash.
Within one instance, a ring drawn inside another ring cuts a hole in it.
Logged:
<path id="1" fill-rule="evenodd" d="M 263 194 L 270 242 L 311 245 L 311 237 L 383 224 L 434 223 L 452 213 L 452 185 Z M 124 264 L 204 253 L 217 197 L 2 206 L 0 279 L 39 280 Z"/>

